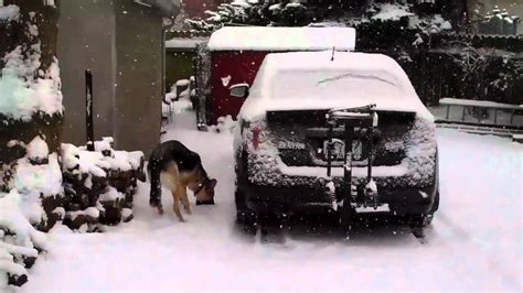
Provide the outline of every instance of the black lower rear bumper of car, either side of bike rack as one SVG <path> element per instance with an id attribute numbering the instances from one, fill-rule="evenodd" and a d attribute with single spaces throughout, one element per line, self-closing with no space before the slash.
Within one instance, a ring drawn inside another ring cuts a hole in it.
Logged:
<path id="1" fill-rule="evenodd" d="M 320 186 L 263 186 L 252 185 L 244 188 L 249 209 L 256 211 L 305 211 L 331 209 L 332 197 Z M 435 202 L 437 186 L 385 188 L 378 187 L 381 204 L 388 205 L 394 215 L 426 214 Z M 337 198 L 342 198 L 337 194 Z"/>

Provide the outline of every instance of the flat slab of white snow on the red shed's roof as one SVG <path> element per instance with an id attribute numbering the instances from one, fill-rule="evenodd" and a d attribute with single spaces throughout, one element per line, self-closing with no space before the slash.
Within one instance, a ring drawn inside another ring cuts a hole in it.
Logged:
<path id="1" fill-rule="evenodd" d="M 210 51 L 353 51 L 352 28 L 226 26 L 209 41 Z"/>

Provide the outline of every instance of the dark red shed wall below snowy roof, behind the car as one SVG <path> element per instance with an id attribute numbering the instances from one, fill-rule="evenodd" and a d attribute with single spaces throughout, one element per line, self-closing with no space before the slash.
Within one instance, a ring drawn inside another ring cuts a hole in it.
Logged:
<path id="1" fill-rule="evenodd" d="M 259 51 L 223 51 L 212 52 L 211 101 L 207 104 L 207 124 L 216 124 L 218 117 L 231 115 L 233 119 L 242 108 L 245 99 L 231 97 L 230 87 L 236 84 L 253 85 L 259 66 L 265 56 L 271 52 Z M 225 86 L 222 78 L 231 76 L 231 82 Z"/>

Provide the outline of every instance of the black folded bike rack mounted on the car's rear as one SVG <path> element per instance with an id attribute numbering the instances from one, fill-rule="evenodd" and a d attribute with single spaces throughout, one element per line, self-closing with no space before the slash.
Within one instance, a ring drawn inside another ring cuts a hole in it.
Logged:
<path id="1" fill-rule="evenodd" d="M 327 146 L 327 176 L 332 175 L 332 151 L 334 150 L 333 133 L 335 127 L 344 129 L 344 164 L 343 164 L 343 185 L 342 185 L 342 207 L 341 225 L 350 229 L 350 221 L 354 209 L 360 206 L 373 207 L 380 206 L 380 197 L 376 184 L 372 178 L 373 160 L 373 140 L 375 139 L 378 116 L 375 110 L 376 105 L 369 105 L 355 108 L 332 109 L 327 113 L 328 123 L 328 146 Z M 357 137 L 356 137 L 357 133 Z M 352 178 L 353 142 L 356 140 L 366 140 L 367 150 L 367 177 L 362 186 L 354 186 Z M 334 197 L 334 200 L 337 198 Z"/>

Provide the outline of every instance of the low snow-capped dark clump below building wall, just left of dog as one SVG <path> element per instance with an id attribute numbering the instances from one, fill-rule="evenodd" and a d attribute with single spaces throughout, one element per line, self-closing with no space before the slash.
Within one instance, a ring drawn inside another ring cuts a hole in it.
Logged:
<path id="1" fill-rule="evenodd" d="M 113 139 L 95 142 L 95 151 L 62 144 L 65 194 L 64 224 L 94 231 L 98 224 L 116 225 L 132 218 L 137 180 L 143 177 L 143 153 L 115 151 Z"/>

